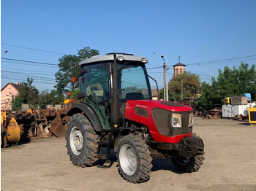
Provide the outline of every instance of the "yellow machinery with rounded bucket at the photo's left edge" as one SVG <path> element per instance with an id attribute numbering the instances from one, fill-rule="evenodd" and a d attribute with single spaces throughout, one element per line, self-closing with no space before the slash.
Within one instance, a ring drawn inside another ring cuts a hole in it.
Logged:
<path id="1" fill-rule="evenodd" d="M 18 144 L 20 141 L 20 128 L 14 117 L 7 117 L 1 112 L 1 147 Z"/>

